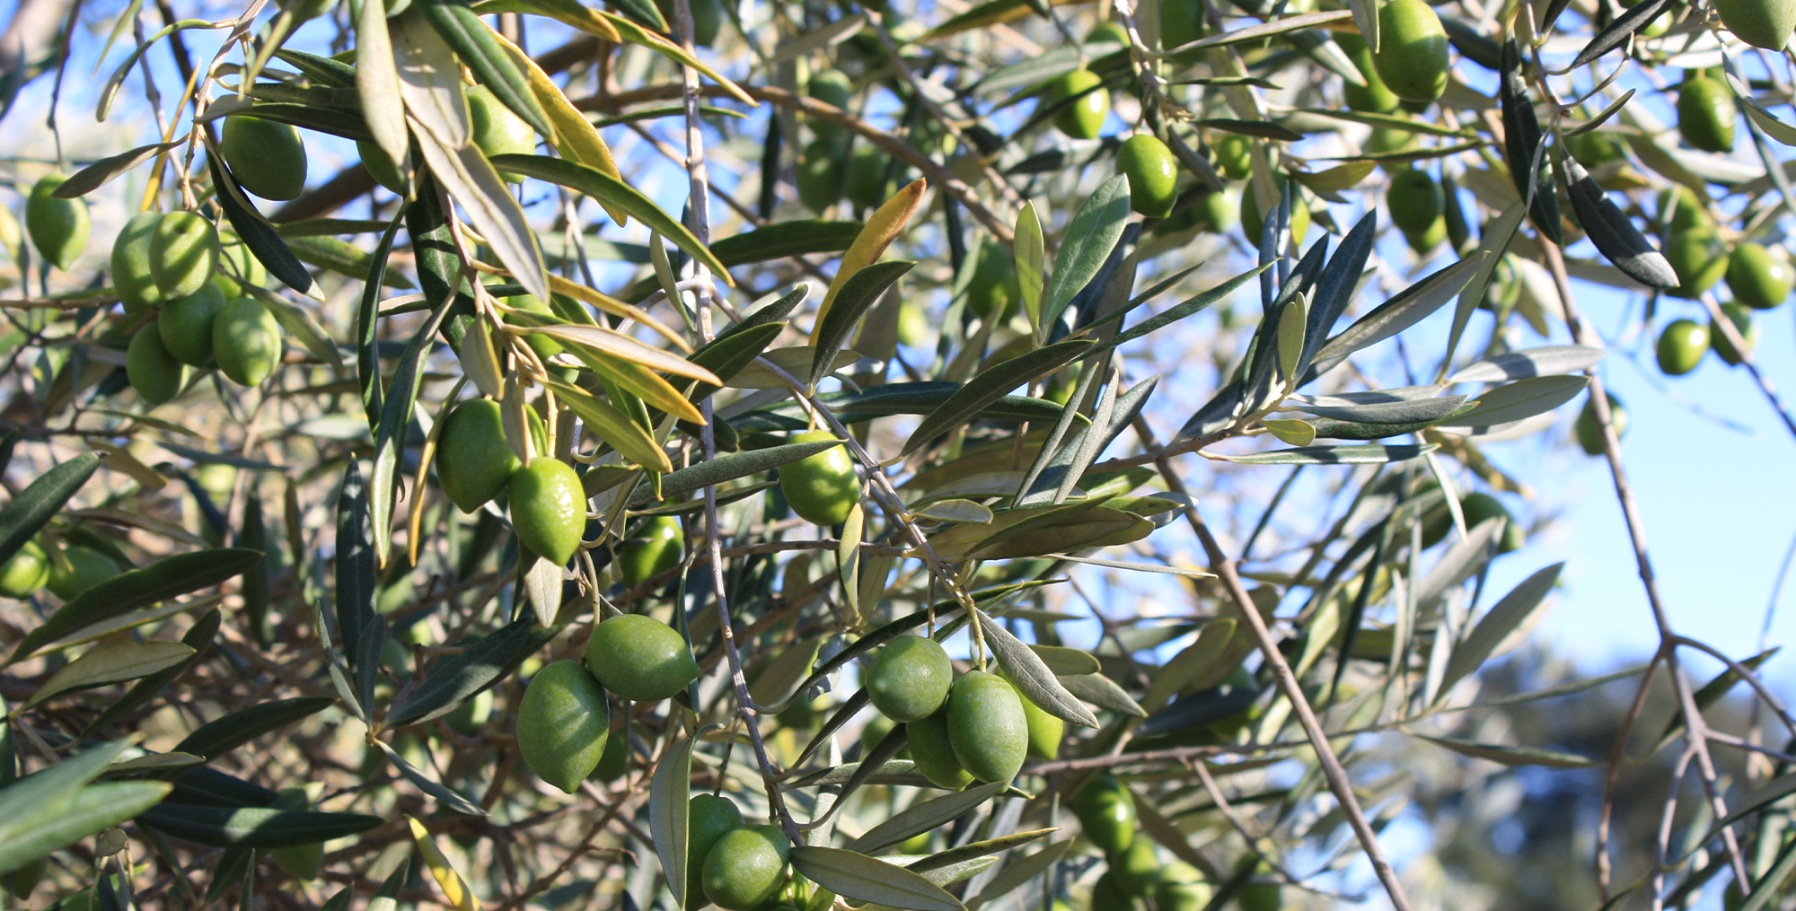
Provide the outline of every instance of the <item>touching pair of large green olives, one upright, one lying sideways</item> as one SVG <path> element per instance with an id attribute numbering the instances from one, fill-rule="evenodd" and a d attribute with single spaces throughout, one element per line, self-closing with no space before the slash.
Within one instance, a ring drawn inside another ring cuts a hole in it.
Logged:
<path id="1" fill-rule="evenodd" d="M 607 689 L 647 703 L 697 678 L 699 662 L 679 631 L 641 613 L 611 617 L 593 626 L 584 665 L 568 658 L 530 678 L 517 705 L 517 751 L 539 778 L 571 794 L 607 753 Z"/>

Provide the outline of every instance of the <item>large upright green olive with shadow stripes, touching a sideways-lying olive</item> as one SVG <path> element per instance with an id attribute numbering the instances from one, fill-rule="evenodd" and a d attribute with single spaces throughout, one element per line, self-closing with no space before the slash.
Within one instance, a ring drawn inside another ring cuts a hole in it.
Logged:
<path id="1" fill-rule="evenodd" d="M 564 793 L 598 766 L 611 733 L 605 690 L 580 662 L 560 660 L 537 671 L 517 701 L 517 751 L 537 778 Z"/>

